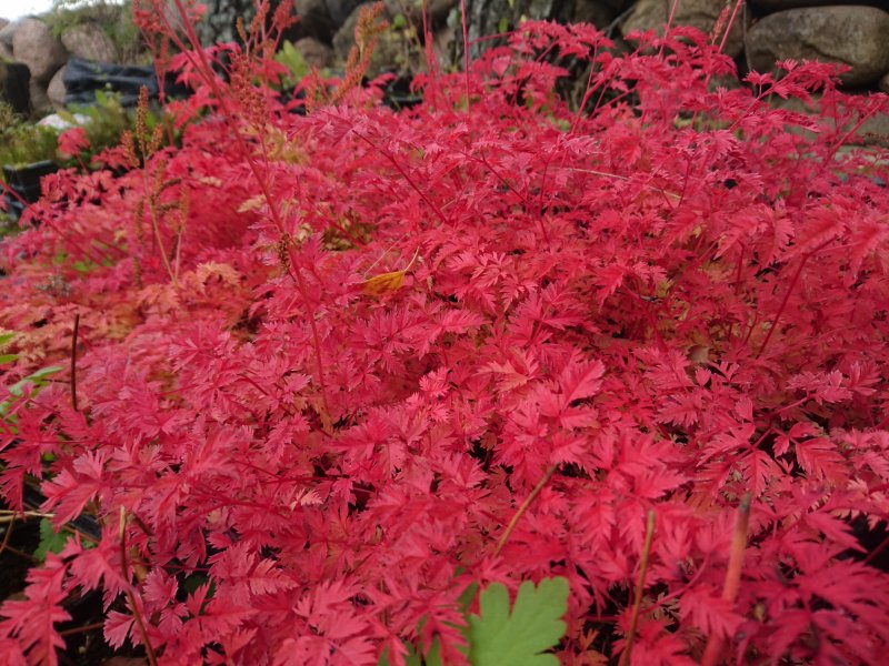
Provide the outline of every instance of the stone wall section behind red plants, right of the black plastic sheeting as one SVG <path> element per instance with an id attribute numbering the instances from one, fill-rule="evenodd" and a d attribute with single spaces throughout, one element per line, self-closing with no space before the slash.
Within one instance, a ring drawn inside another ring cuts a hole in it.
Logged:
<path id="1" fill-rule="evenodd" d="M 249 0 L 209 0 L 210 4 L 249 3 Z M 520 17 L 586 21 L 620 40 L 633 30 L 657 30 L 668 19 L 672 0 L 466 0 L 469 37 L 476 40 L 497 32 L 505 23 L 513 28 Z M 390 20 L 398 14 L 420 26 L 416 2 L 386 0 Z M 289 36 L 307 60 L 332 64 L 342 60 L 352 43 L 359 0 L 296 0 L 302 16 Z M 711 32 L 720 13 L 735 0 L 679 0 L 676 24 Z M 430 24 L 442 60 L 459 51 L 458 0 L 428 0 Z M 223 14 L 220 12 L 219 18 Z M 244 14 L 240 14 L 244 16 Z M 249 16 L 249 14 L 248 14 Z M 224 21 L 220 34 L 231 33 Z M 212 38 L 213 30 L 203 34 Z M 722 42 L 723 36 L 717 37 Z M 332 47 L 332 50 L 331 50 Z M 812 59 L 846 64 L 841 77 L 849 89 L 889 92 L 889 0 L 839 2 L 830 0 L 749 0 L 741 6 L 728 36 L 726 53 L 742 70 L 771 69 L 778 60 Z M 479 49 L 472 53 L 478 54 Z"/>

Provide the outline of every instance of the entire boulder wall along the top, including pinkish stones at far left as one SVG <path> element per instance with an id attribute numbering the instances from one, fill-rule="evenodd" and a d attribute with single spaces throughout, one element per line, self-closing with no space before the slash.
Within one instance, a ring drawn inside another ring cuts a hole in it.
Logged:
<path id="1" fill-rule="evenodd" d="M 657 30 L 667 20 L 672 0 L 466 0 L 471 38 L 515 27 L 520 17 L 587 21 L 620 41 L 633 30 Z M 231 40 L 238 17 L 249 21 L 252 0 L 206 0 L 208 19 L 200 27 L 206 43 Z M 294 0 L 302 17 L 287 38 L 307 62 L 319 67 L 342 62 L 352 44 L 360 0 Z M 413 0 L 386 0 L 386 14 L 399 30 L 380 43 L 379 69 L 407 65 L 404 52 L 416 46 L 410 26 L 420 26 Z M 722 10 L 735 0 L 679 0 L 676 24 L 711 32 Z M 428 0 L 436 51 L 453 61 L 460 51 L 458 0 Z M 407 26 L 407 27 L 404 27 Z M 716 39 L 721 43 L 723 36 Z M 850 90 L 889 92 L 889 0 L 860 3 L 829 0 L 749 0 L 725 36 L 725 52 L 742 70 L 771 69 L 777 60 L 816 59 L 846 64 L 842 74 Z M 478 49 L 473 50 L 477 54 Z M 116 47 L 100 26 L 82 23 L 54 37 L 39 18 L 12 23 L 0 19 L 0 61 L 18 61 L 30 70 L 31 105 L 40 112 L 63 102 L 62 73 L 69 54 L 113 62 Z"/>

